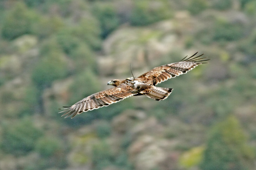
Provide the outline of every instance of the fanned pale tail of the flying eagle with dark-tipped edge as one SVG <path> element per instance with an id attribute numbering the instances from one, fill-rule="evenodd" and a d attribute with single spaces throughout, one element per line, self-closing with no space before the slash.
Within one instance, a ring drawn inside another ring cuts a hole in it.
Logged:
<path id="1" fill-rule="evenodd" d="M 163 87 L 154 87 L 150 89 L 149 93 L 143 93 L 147 97 L 154 99 L 154 100 L 164 100 L 171 94 L 172 88 L 163 88 Z"/>

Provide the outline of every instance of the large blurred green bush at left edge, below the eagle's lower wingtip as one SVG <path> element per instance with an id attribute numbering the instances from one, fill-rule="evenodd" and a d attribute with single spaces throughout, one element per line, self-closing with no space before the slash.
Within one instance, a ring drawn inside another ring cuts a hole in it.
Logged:
<path id="1" fill-rule="evenodd" d="M 42 134 L 42 130 L 36 128 L 31 119 L 20 119 L 17 124 L 6 124 L 3 127 L 1 148 L 14 155 L 26 154 L 34 150 L 36 140 Z"/>

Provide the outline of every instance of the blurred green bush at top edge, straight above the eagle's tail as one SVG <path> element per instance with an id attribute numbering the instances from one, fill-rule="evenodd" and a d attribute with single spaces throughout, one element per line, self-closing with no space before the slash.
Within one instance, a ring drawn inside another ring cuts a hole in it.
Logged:
<path id="1" fill-rule="evenodd" d="M 171 17 L 168 1 L 135 0 L 130 22 L 133 26 L 144 26 Z"/>

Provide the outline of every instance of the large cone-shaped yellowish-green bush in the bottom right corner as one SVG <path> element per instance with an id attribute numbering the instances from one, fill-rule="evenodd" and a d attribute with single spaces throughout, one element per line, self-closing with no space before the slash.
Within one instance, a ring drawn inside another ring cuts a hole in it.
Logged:
<path id="1" fill-rule="evenodd" d="M 201 168 L 202 170 L 245 170 L 248 168 L 246 162 L 253 163 L 253 154 L 246 144 L 246 136 L 238 120 L 230 116 L 213 127 Z"/>

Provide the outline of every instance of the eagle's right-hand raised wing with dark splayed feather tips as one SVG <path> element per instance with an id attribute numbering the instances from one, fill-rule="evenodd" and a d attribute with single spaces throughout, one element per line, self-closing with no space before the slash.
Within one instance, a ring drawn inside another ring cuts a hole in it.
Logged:
<path id="1" fill-rule="evenodd" d="M 195 66 L 206 63 L 204 61 L 209 60 L 205 59 L 206 57 L 201 58 L 203 54 L 195 56 L 197 53 L 189 58 L 186 56 L 179 62 L 153 68 L 147 73 L 139 76 L 137 80 L 147 83 L 148 85 L 156 85 L 157 83 L 164 82 L 168 78 L 187 73 L 187 71 L 192 70 Z"/>

